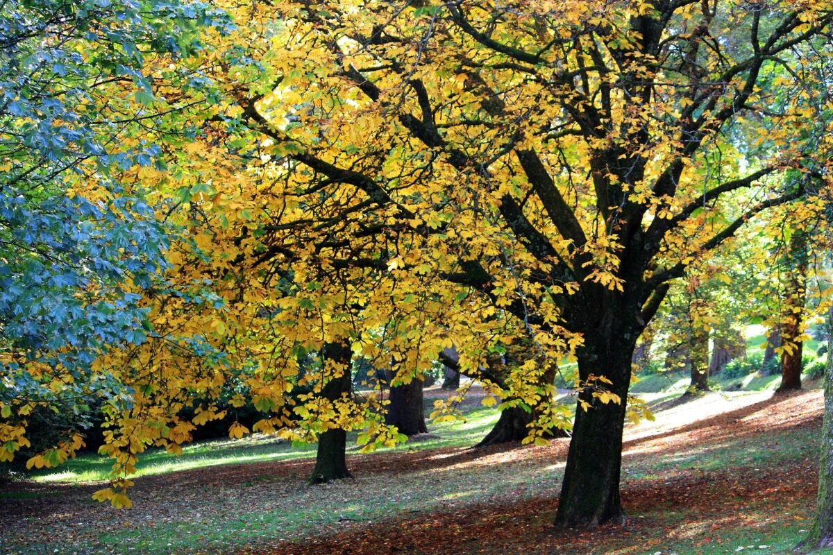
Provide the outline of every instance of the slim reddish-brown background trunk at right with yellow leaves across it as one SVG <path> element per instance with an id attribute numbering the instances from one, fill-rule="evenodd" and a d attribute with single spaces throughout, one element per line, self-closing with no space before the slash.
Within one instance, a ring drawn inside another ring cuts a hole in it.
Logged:
<path id="1" fill-rule="evenodd" d="M 787 273 L 784 316 L 781 319 L 781 385 L 776 393 L 801 389 L 801 326 L 807 284 L 807 236 L 801 230 L 790 240 L 790 265 Z"/>

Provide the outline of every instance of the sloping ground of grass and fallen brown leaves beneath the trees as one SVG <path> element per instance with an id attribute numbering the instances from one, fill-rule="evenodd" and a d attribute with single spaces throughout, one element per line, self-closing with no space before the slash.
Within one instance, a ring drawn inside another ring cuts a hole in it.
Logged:
<path id="1" fill-rule="evenodd" d="M 148 475 L 121 511 L 92 501 L 100 483 L 7 483 L 0 555 L 789 553 L 815 507 L 821 391 L 657 409 L 626 430 L 624 523 L 553 528 L 567 439 L 406 444 L 351 455 L 355 478 L 323 486 L 307 486 L 309 458 Z"/>

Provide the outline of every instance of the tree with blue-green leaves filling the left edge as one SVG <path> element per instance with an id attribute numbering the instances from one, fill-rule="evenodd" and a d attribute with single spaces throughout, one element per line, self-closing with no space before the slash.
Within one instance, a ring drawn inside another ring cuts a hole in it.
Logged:
<path id="1" fill-rule="evenodd" d="M 96 360 L 152 332 L 142 294 L 164 286 L 174 230 L 157 218 L 146 187 L 122 179 L 161 167 L 157 138 L 170 131 L 144 71 L 152 57 L 182 71 L 200 47 L 197 28 L 222 17 L 192 2 L 144 7 L 2 2 L 0 461 L 28 443 L 36 407 L 121 404 L 129 387 Z M 77 431 L 30 465 L 65 460 L 82 445 Z"/>

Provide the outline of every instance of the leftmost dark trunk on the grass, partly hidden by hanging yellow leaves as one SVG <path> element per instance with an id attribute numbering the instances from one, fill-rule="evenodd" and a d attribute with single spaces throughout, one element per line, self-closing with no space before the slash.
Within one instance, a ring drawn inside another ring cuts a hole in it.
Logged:
<path id="1" fill-rule="evenodd" d="M 330 364 L 336 364 L 341 369 L 334 368 L 334 375 L 324 384 L 321 395 L 324 399 L 336 401 L 343 394 L 350 394 L 350 347 L 346 344 L 327 343 L 322 349 L 325 369 Z M 338 372 L 341 371 L 341 374 Z M 327 372 L 325 372 L 327 374 Z M 318 451 L 316 453 L 315 468 L 312 470 L 310 483 L 327 483 L 341 478 L 351 478 L 347 470 L 347 432 L 343 429 L 328 429 L 318 436 Z"/>

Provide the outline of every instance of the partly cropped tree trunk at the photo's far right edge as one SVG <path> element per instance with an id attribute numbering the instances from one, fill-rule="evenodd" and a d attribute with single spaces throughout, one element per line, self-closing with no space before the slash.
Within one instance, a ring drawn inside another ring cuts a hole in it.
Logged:
<path id="1" fill-rule="evenodd" d="M 833 310 L 827 314 L 827 352 L 833 352 Z M 833 356 L 827 357 L 825 369 L 825 419 L 821 425 L 819 453 L 819 493 L 816 522 L 799 549 L 833 548 Z"/>

